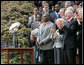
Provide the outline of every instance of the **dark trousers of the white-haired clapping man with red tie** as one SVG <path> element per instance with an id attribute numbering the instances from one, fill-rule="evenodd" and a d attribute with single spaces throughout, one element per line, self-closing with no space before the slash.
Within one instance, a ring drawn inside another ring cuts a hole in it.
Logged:
<path id="1" fill-rule="evenodd" d="M 76 49 L 65 48 L 64 49 L 65 64 L 76 64 Z"/>

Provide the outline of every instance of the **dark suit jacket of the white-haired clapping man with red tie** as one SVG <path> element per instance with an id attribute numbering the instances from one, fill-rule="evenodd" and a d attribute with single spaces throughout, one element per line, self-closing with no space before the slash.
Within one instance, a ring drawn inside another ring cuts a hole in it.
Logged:
<path id="1" fill-rule="evenodd" d="M 63 34 L 63 48 L 76 48 L 78 22 L 72 18 L 68 24 L 67 22 L 64 24 L 64 27 L 59 30 L 59 33 Z"/>

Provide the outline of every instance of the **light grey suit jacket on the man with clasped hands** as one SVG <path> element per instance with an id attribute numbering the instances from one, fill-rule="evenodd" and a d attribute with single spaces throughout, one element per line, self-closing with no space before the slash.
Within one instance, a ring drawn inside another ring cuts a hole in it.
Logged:
<path id="1" fill-rule="evenodd" d="M 53 49 L 53 41 L 50 38 L 50 36 L 51 36 L 50 29 L 51 29 L 51 27 L 55 27 L 55 25 L 52 22 L 49 22 L 43 28 L 43 24 L 40 25 L 39 36 L 37 37 L 37 42 L 42 42 L 43 45 L 38 46 L 38 48 L 40 47 L 41 50 L 50 50 L 50 49 Z"/>

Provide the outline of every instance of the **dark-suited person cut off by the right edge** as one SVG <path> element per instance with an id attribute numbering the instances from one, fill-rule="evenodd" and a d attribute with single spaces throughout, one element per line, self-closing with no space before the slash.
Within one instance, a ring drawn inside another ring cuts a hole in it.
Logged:
<path id="1" fill-rule="evenodd" d="M 76 18 L 78 21 L 78 35 L 77 35 L 77 43 L 79 49 L 79 64 L 83 64 L 83 37 L 82 37 L 82 23 L 83 23 L 83 8 L 78 8 L 76 13 Z"/>

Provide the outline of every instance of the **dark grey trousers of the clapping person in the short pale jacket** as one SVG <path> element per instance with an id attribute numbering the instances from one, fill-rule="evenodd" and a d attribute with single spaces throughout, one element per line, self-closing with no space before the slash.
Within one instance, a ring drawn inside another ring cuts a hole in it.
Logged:
<path id="1" fill-rule="evenodd" d="M 63 51 L 61 48 L 54 48 L 54 63 L 55 64 L 64 64 Z"/>

